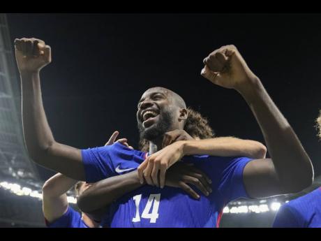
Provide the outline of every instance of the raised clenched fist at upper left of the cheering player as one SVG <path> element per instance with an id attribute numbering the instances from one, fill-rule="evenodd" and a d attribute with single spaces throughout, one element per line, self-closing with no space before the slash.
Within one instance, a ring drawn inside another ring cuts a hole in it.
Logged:
<path id="1" fill-rule="evenodd" d="M 51 62 L 50 46 L 37 38 L 16 38 L 15 59 L 20 73 L 36 73 Z"/>

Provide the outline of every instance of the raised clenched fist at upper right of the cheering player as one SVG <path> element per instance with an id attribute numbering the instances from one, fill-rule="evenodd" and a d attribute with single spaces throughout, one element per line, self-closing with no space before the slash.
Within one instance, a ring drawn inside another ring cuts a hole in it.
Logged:
<path id="1" fill-rule="evenodd" d="M 201 75 L 221 87 L 240 90 L 257 80 L 234 45 L 211 52 L 203 62 Z"/>

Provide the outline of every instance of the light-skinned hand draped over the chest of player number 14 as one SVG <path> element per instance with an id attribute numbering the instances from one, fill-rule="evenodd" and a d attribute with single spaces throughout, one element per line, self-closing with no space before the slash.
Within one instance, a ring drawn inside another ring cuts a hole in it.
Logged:
<path id="1" fill-rule="evenodd" d="M 147 156 L 137 168 L 140 183 L 143 184 L 144 180 L 146 180 L 149 185 L 156 185 L 157 187 L 163 188 L 165 185 L 166 170 L 184 156 L 184 143 L 185 140 L 180 140 L 151 154 L 151 156 Z"/>

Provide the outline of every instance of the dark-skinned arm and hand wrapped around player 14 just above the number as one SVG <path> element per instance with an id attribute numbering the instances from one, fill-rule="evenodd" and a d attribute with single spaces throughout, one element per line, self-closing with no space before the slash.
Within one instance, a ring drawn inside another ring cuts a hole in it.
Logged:
<path id="1" fill-rule="evenodd" d="M 200 196 L 191 189 L 190 185 L 202 191 L 205 196 L 208 196 L 212 191 L 209 177 L 201 170 L 186 163 L 176 163 L 168 170 L 166 177 L 166 186 L 183 189 L 192 198 L 197 199 Z M 77 205 L 83 212 L 97 214 L 96 210 L 104 210 L 104 207 L 110 205 L 114 200 L 142 187 L 142 185 L 144 183 L 140 183 L 137 170 L 124 175 L 110 177 L 96 182 L 84 191 L 78 198 Z"/>

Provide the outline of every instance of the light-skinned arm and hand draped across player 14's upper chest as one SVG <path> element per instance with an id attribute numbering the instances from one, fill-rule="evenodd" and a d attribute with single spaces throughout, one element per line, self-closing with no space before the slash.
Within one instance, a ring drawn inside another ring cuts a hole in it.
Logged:
<path id="1" fill-rule="evenodd" d="M 164 187 L 167 168 L 185 155 L 248 156 L 259 159 L 264 158 L 267 152 L 264 145 L 254 140 L 232 137 L 194 140 L 183 130 L 165 133 L 163 147 L 149 156 L 137 169 L 141 182 L 145 179 L 147 184 L 158 186 L 159 170 L 160 187 Z"/>

